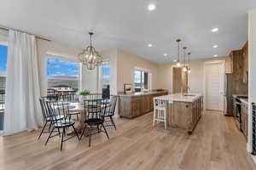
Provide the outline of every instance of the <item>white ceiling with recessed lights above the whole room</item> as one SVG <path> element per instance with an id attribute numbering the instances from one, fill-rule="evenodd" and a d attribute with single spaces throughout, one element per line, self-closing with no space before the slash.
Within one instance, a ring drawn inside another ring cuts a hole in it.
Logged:
<path id="1" fill-rule="evenodd" d="M 149 3 L 156 4 L 154 11 L 148 11 Z M 122 48 L 169 63 L 177 58 L 177 38 L 192 59 L 227 56 L 241 48 L 252 8 L 255 0 L 2 0 L 0 25 L 78 48 L 88 45 L 88 31 L 94 31 L 98 51 Z M 212 33 L 214 27 L 219 31 Z"/>

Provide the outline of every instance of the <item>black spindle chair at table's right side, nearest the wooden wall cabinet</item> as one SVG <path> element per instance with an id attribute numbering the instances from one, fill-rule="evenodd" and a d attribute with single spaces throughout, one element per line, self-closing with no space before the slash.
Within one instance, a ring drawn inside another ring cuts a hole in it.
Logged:
<path id="1" fill-rule="evenodd" d="M 105 127 L 114 127 L 116 130 L 116 126 L 113 122 L 113 116 L 114 116 L 114 111 L 117 103 L 118 96 L 117 95 L 110 95 L 109 96 L 109 105 L 106 108 L 106 113 L 102 116 L 105 120 Z M 110 124 L 108 124 L 110 122 Z"/>

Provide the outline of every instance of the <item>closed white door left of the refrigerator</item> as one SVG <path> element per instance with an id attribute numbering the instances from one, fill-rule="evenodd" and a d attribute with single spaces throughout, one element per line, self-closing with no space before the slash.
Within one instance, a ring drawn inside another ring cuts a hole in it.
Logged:
<path id="1" fill-rule="evenodd" d="M 206 109 L 224 111 L 224 64 L 205 64 Z"/>

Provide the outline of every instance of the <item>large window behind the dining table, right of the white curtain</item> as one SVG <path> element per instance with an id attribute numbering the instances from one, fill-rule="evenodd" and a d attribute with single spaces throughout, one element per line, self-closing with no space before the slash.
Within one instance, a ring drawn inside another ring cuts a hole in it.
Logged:
<path id="1" fill-rule="evenodd" d="M 79 63 L 66 59 L 47 59 L 48 94 L 79 90 Z"/>

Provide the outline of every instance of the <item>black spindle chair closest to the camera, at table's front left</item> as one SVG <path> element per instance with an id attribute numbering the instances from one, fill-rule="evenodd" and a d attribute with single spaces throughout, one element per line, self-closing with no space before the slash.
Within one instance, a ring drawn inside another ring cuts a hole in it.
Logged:
<path id="1" fill-rule="evenodd" d="M 51 134 L 54 132 L 55 129 L 58 129 L 60 132 L 60 129 L 62 130 L 61 134 L 61 150 L 62 150 L 62 144 L 63 142 L 67 141 L 68 139 L 72 139 L 73 137 L 77 136 L 79 139 L 79 134 L 77 133 L 74 123 L 72 120 L 67 118 L 67 114 L 70 112 L 70 109 L 73 109 L 73 105 L 67 105 L 66 101 L 45 101 L 47 110 L 49 111 L 49 114 L 53 117 L 55 117 L 55 122 L 52 124 L 52 130 L 49 133 L 49 137 L 45 142 L 45 145 L 48 143 L 50 138 L 53 138 L 55 136 L 51 136 Z M 64 116 L 63 119 L 57 120 L 57 117 Z M 67 128 L 73 127 L 73 131 L 76 135 L 67 137 Z M 65 139 L 64 139 L 65 136 Z M 80 139 L 79 139 L 80 140 Z"/>

